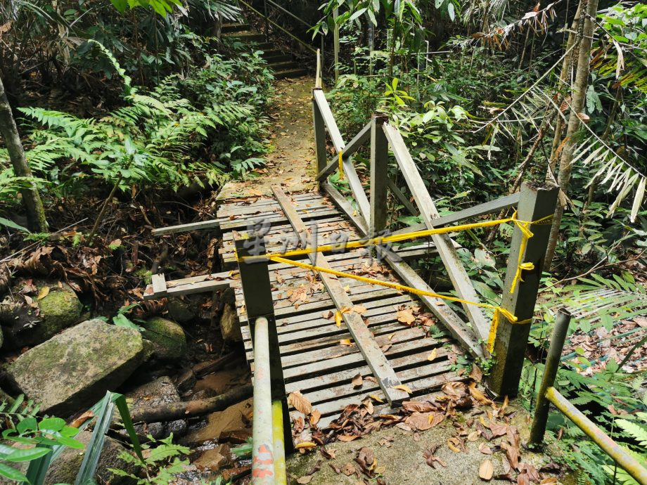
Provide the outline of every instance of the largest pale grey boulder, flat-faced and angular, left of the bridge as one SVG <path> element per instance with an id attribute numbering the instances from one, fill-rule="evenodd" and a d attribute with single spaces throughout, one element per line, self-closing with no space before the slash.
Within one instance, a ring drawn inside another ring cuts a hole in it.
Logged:
<path id="1" fill-rule="evenodd" d="M 41 411 L 65 416 L 119 387 L 145 358 L 137 330 L 89 320 L 26 351 L 7 373 Z"/>

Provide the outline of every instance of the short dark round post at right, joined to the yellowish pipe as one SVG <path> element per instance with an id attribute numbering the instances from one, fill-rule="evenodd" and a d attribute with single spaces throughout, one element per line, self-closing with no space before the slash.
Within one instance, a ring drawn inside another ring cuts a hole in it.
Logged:
<path id="1" fill-rule="evenodd" d="M 539 386 L 539 394 L 537 395 L 537 408 L 534 410 L 532 428 L 530 429 L 530 440 L 528 440 L 528 446 L 530 447 L 541 446 L 544 441 L 546 422 L 548 422 L 548 412 L 551 406 L 550 401 L 546 399 L 546 391 L 555 383 L 569 323 L 570 313 L 565 309 L 560 309 L 553 327 L 551 345 L 548 349 L 546 363 L 544 364 L 544 376 L 542 377 L 542 384 Z"/>

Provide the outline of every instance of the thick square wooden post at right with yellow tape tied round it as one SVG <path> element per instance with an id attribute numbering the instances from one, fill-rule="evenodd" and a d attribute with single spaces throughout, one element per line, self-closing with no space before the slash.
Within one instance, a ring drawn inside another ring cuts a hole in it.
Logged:
<path id="1" fill-rule="evenodd" d="M 537 221 L 555 212 L 558 188 L 556 186 L 535 186 L 524 182 L 517 210 L 520 221 Z M 544 255 L 551 232 L 551 221 L 530 226 L 533 233 L 528 240 L 525 254 L 519 259 L 522 232 L 516 227 L 512 236 L 506 284 L 501 307 L 518 318 L 519 322 L 512 323 L 501 315 L 499 328 L 494 340 L 494 366 L 489 374 L 487 385 L 489 390 L 498 396 L 517 395 L 523 360 L 530 334 L 530 321 L 534 315 L 534 304 L 537 302 L 539 280 L 544 269 Z M 524 270 L 511 293 L 510 288 L 517 272 L 518 262 L 532 263 L 534 269 Z"/>

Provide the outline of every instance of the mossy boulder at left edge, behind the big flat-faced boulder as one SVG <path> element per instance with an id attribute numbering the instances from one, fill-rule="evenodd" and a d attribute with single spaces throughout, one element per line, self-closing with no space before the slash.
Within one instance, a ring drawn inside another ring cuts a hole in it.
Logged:
<path id="1" fill-rule="evenodd" d="M 66 283 L 27 280 L 16 290 L 0 302 L 8 347 L 40 344 L 79 321 L 83 305 Z"/>

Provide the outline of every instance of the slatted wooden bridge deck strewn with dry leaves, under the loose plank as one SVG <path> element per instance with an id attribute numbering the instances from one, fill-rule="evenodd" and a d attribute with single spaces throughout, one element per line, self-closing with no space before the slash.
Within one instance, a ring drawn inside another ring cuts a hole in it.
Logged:
<path id="1" fill-rule="evenodd" d="M 346 233 L 349 240 L 361 237 L 327 195 L 307 192 L 289 198 L 306 226 L 317 224 L 318 245 L 332 242 L 331 237 L 338 233 Z M 252 230 L 250 222 L 269 223 L 264 234 L 268 252 L 281 250 L 286 238 L 297 235 L 274 198 L 224 201 L 217 217 L 223 237 L 220 254 L 226 267 L 236 265 L 234 239 L 247 237 L 245 233 Z M 339 271 L 397 281 L 387 266 L 372 260 L 364 250 L 329 254 L 327 259 Z M 297 261 L 309 262 L 306 257 Z M 345 323 L 336 325 L 335 304 L 319 278 L 312 271 L 288 264 L 270 264 L 269 269 L 286 392 L 300 391 L 309 399 L 321 413 L 320 427 L 334 420 L 348 404 L 359 403 L 370 394 L 386 403 L 364 357 L 352 344 Z M 340 283 L 355 305 L 353 311 L 361 315 L 395 375 L 413 392 L 411 396 L 430 394 L 445 382 L 461 379 L 454 371 L 461 349 L 447 337 L 429 335 L 435 319 L 415 297 L 350 278 L 340 278 Z M 247 360 L 253 370 L 241 280 L 232 286 Z M 417 316 L 412 326 L 398 321 L 398 311 L 405 309 L 413 309 Z M 364 382 L 355 387 L 352 380 L 358 374 Z"/>

